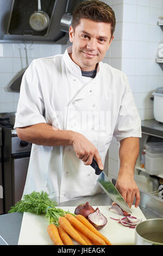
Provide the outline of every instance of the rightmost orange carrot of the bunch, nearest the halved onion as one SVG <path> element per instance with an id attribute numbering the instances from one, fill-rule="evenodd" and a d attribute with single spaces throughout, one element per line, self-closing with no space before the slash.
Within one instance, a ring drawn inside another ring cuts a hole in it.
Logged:
<path id="1" fill-rule="evenodd" d="M 83 215 L 77 215 L 76 218 L 82 222 L 87 228 L 89 228 L 94 234 L 98 235 L 103 239 L 106 243 L 106 245 L 111 245 L 111 242 L 103 235 L 101 234 L 93 225 L 83 216 Z"/>

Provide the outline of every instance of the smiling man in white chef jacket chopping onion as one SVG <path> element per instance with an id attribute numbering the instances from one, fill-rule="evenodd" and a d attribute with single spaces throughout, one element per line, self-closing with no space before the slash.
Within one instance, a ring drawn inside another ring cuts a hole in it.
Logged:
<path id="1" fill-rule="evenodd" d="M 116 187 L 129 206 L 141 121 L 128 78 L 102 62 L 115 30 L 114 11 L 86 1 L 73 13 L 64 54 L 33 60 L 21 84 L 14 128 L 33 143 L 23 194 L 45 191 L 57 202 L 101 193 L 94 158 L 103 169 L 112 136 L 120 142 Z"/>

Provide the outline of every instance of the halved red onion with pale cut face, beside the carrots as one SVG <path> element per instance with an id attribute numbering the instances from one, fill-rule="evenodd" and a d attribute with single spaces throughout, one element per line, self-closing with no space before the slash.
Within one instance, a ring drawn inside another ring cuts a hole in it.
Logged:
<path id="1" fill-rule="evenodd" d="M 89 214 L 89 216 L 87 216 L 87 220 L 89 220 L 89 222 L 97 230 L 102 229 L 108 222 L 106 217 L 103 214 L 101 214 L 101 212 L 99 211 L 98 208 L 96 208 L 96 210 L 94 212 L 92 212 L 92 214 Z"/>

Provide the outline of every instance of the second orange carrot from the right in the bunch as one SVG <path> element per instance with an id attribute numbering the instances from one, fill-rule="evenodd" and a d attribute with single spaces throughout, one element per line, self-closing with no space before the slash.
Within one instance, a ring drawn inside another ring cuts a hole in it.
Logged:
<path id="1" fill-rule="evenodd" d="M 65 217 L 67 218 L 68 221 L 80 232 L 82 232 L 84 235 L 89 237 L 89 239 L 96 245 L 105 245 L 105 242 L 97 236 L 95 233 L 93 233 L 89 228 L 87 228 L 82 222 L 80 222 L 76 217 L 74 217 L 71 214 L 65 214 Z"/>

